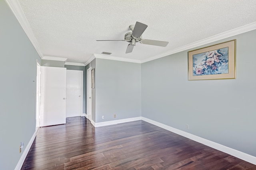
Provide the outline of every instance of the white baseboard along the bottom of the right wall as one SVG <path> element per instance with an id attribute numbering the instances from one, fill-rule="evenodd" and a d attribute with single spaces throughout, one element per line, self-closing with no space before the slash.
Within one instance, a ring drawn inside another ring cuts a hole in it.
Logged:
<path id="1" fill-rule="evenodd" d="M 206 146 L 210 146 L 211 148 L 214 148 L 214 149 L 217 149 L 217 150 L 220 150 L 222 152 L 225 152 L 227 154 L 230 154 L 232 156 L 235 156 L 237 158 L 240 158 L 242 160 L 245 160 L 247 162 L 250 162 L 254 165 L 256 165 L 256 157 L 252 156 L 252 155 L 249 155 L 249 154 L 246 154 L 244 152 L 241 152 L 241 151 L 238 151 L 238 150 L 235 150 L 235 149 L 232 149 L 232 148 L 229 148 L 227 146 L 224 146 L 224 145 L 221 145 L 221 144 L 218 144 L 216 142 L 212 142 L 210 140 L 207 140 L 207 139 L 204 139 L 204 138 L 201 138 L 199 136 L 196 136 L 196 135 L 193 135 L 193 134 L 190 134 L 188 132 L 184 132 L 182 130 L 178 130 L 176 128 L 173 128 L 171 126 L 167 126 L 165 124 L 162 124 L 162 123 L 159 123 L 159 122 L 156 122 L 154 120 L 151 120 L 151 119 L 148 119 L 148 118 L 144 118 L 142 117 L 142 120 L 144 120 L 145 122 L 148 122 L 150 124 L 154 124 L 160 128 L 164 128 L 166 130 L 169 130 L 171 132 L 174 132 L 176 134 L 179 134 L 181 136 L 184 136 L 186 138 L 189 138 L 191 140 L 194 140 L 196 142 L 199 142 L 201 144 L 204 144 Z"/>

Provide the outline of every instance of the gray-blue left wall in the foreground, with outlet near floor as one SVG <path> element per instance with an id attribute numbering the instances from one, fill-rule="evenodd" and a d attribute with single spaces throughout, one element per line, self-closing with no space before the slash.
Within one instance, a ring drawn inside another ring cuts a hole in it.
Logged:
<path id="1" fill-rule="evenodd" d="M 4 0 L 0 25 L 0 169 L 14 170 L 36 128 L 36 59 L 41 59 Z"/>

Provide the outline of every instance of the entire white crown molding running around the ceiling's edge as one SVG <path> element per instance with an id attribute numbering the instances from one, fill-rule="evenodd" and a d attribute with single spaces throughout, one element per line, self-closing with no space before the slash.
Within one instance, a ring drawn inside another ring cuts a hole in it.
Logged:
<path id="1" fill-rule="evenodd" d="M 28 23 L 28 20 L 22 10 L 22 8 L 20 7 L 20 4 L 18 3 L 18 0 L 5 0 L 6 3 L 8 4 L 8 6 L 10 7 L 10 9 L 12 10 L 12 12 L 14 13 L 15 17 L 17 18 L 18 22 L 20 23 L 20 25 L 22 26 L 24 32 L 27 34 L 29 40 L 31 41 L 32 45 L 34 46 L 34 48 L 36 49 L 38 55 L 44 59 L 45 57 L 48 56 L 44 56 L 43 53 L 41 52 L 40 46 L 38 44 L 38 41 L 36 40 L 36 37 L 34 35 L 34 33 L 32 32 L 32 29 L 30 28 L 30 25 Z M 215 36 L 211 36 L 209 38 L 205 38 L 203 40 L 199 40 L 197 42 L 170 50 L 168 52 L 164 52 L 162 54 L 158 54 L 156 56 L 153 56 L 151 58 L 148 58 L 146 60 L 134 60 L 134 59 L 129 59 L 129 58 L 120 58 L 120 57 L 114 57 L 114 56 L 107 56 L 104 54 L 93 54 L 86 63 L 84 63 L 84 66 L 86 66 L 87 64 L 89 64 L 94 58 L 102 58 L 102 59 L 108 59 L 108 60 L 118 60 L 118 61 L 125 61 L 125 62 L 135 62 L 135 63 L 144 63 L 144 62 L 148 62 L 151 60 L 155 60 L 158 58 L 162 58 L 164 56 L 168 56 L 171 54 L 175 54 L 177 52 L 182 52 L 185 50 L 189 50 L 191 48 L 195 48 L 201 45 L 205 45 L 211 42 L 215 42 L 218 40 L 222 40 L 224 38 L 228 38 L 231 36 L 235 36 L 238 34 L 242 34 L 245 32 L 249 32 L 251 30 L 255 30 L 256 29 L 256 22 L 252 22 L 250 24 L 217 34 Z M 50 60 L 50 59 L 44 59 L 44 60 Z M 66 59 L 67 60 L 67 59 Z M 66 61 L 64 60 L 64 61 Z M 58 60 L 58 61 L 63 61 L 63 60 Z M 66 64 L 66 65 L 71 65 L 71 64 Z M 80 66 L 80 65 L 79 65 Z"/>

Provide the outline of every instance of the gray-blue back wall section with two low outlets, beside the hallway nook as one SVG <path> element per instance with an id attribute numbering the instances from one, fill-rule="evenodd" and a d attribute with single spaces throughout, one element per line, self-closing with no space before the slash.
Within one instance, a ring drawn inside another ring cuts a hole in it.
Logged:
<path id="1" fill-rule="evenodd" d="M 140 73 L 141 64 L 96 58 L 96 123 L 141 116 Z"/>

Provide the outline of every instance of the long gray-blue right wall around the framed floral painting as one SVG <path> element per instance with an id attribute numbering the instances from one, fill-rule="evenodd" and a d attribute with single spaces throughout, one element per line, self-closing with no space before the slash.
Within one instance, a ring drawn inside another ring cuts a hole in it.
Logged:
<path id="1" fill-rule="evenodd" d="M 205 46 L 232 39 L 236 79 L 188 81 L 189 50 L 143 63 L 142 116 L 256 156 L 256 30 Z"/>

